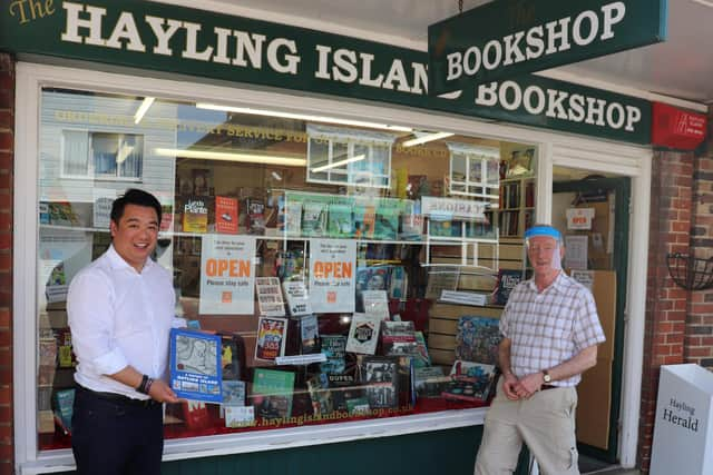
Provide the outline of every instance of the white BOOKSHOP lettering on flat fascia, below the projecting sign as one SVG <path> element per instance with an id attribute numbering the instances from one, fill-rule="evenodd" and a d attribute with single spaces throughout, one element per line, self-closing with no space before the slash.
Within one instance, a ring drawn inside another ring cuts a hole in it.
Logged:
<path id="1" fill-rule="evenodd" d="M 520 85 L 515 81 L 478 86 L 475 102 L 485 107 L 500 106 L 506 110 L 521 107 L 534 116 L 545 111 L 553 119 L 606 126 L 615 130 L 623 128 L 627 132 L 634 131 L 634 126 L 642 120 L 642 110 L 635 106 L 538 86 L 528 86 L 522 92 Z"/>

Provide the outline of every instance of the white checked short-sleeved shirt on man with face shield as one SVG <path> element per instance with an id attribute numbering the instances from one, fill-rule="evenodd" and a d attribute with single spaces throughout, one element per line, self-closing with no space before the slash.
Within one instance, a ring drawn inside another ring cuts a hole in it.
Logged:
<path id="1" fill-rule="evenodd" d="M 605 340 L 592 293 L 564 271 L 541 294 L 535 280 L 512 289 L 500 318 L 511 342 L 510 366 L 518 378 L 549 369 Z M 580 375 L 555 382 L 576 386 Z"/>

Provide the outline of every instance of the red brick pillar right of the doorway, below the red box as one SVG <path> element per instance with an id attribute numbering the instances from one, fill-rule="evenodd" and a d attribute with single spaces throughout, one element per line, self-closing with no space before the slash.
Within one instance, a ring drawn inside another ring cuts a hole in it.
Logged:
<path id="1" fill-rule="evenodd" d="M 656 151 L 652 166 L 638 451 L 639 466 L 644 471 L 651 462 L 660 367 L 684 362 L 690 293 L 668 276 L 666 254 L 688 253 L 694 162 L 693 154 Z"/>

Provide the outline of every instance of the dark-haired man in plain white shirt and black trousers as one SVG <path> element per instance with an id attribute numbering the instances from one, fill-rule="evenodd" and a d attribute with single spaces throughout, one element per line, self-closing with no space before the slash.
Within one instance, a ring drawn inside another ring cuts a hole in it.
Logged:
<path id="1" fill-rule="evenodd" d="M 78 474 L 160 473 L 162 403 L 178 402 L 163 378 L 179 321 L 172 276 L 150 259 L 160 217 L 156 197 L 127 190 L 111 207 L 111 246 L 69 287 Z"/>

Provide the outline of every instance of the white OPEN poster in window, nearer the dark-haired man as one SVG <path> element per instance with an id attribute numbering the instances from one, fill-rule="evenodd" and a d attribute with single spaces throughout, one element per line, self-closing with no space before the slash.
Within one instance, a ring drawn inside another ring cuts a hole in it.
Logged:
<path id="1" fill-rule="evenodd" d="M 255 238 L 206 235 L 201 245 L 201 303 L 208 315 L 253 315 Z"/>

